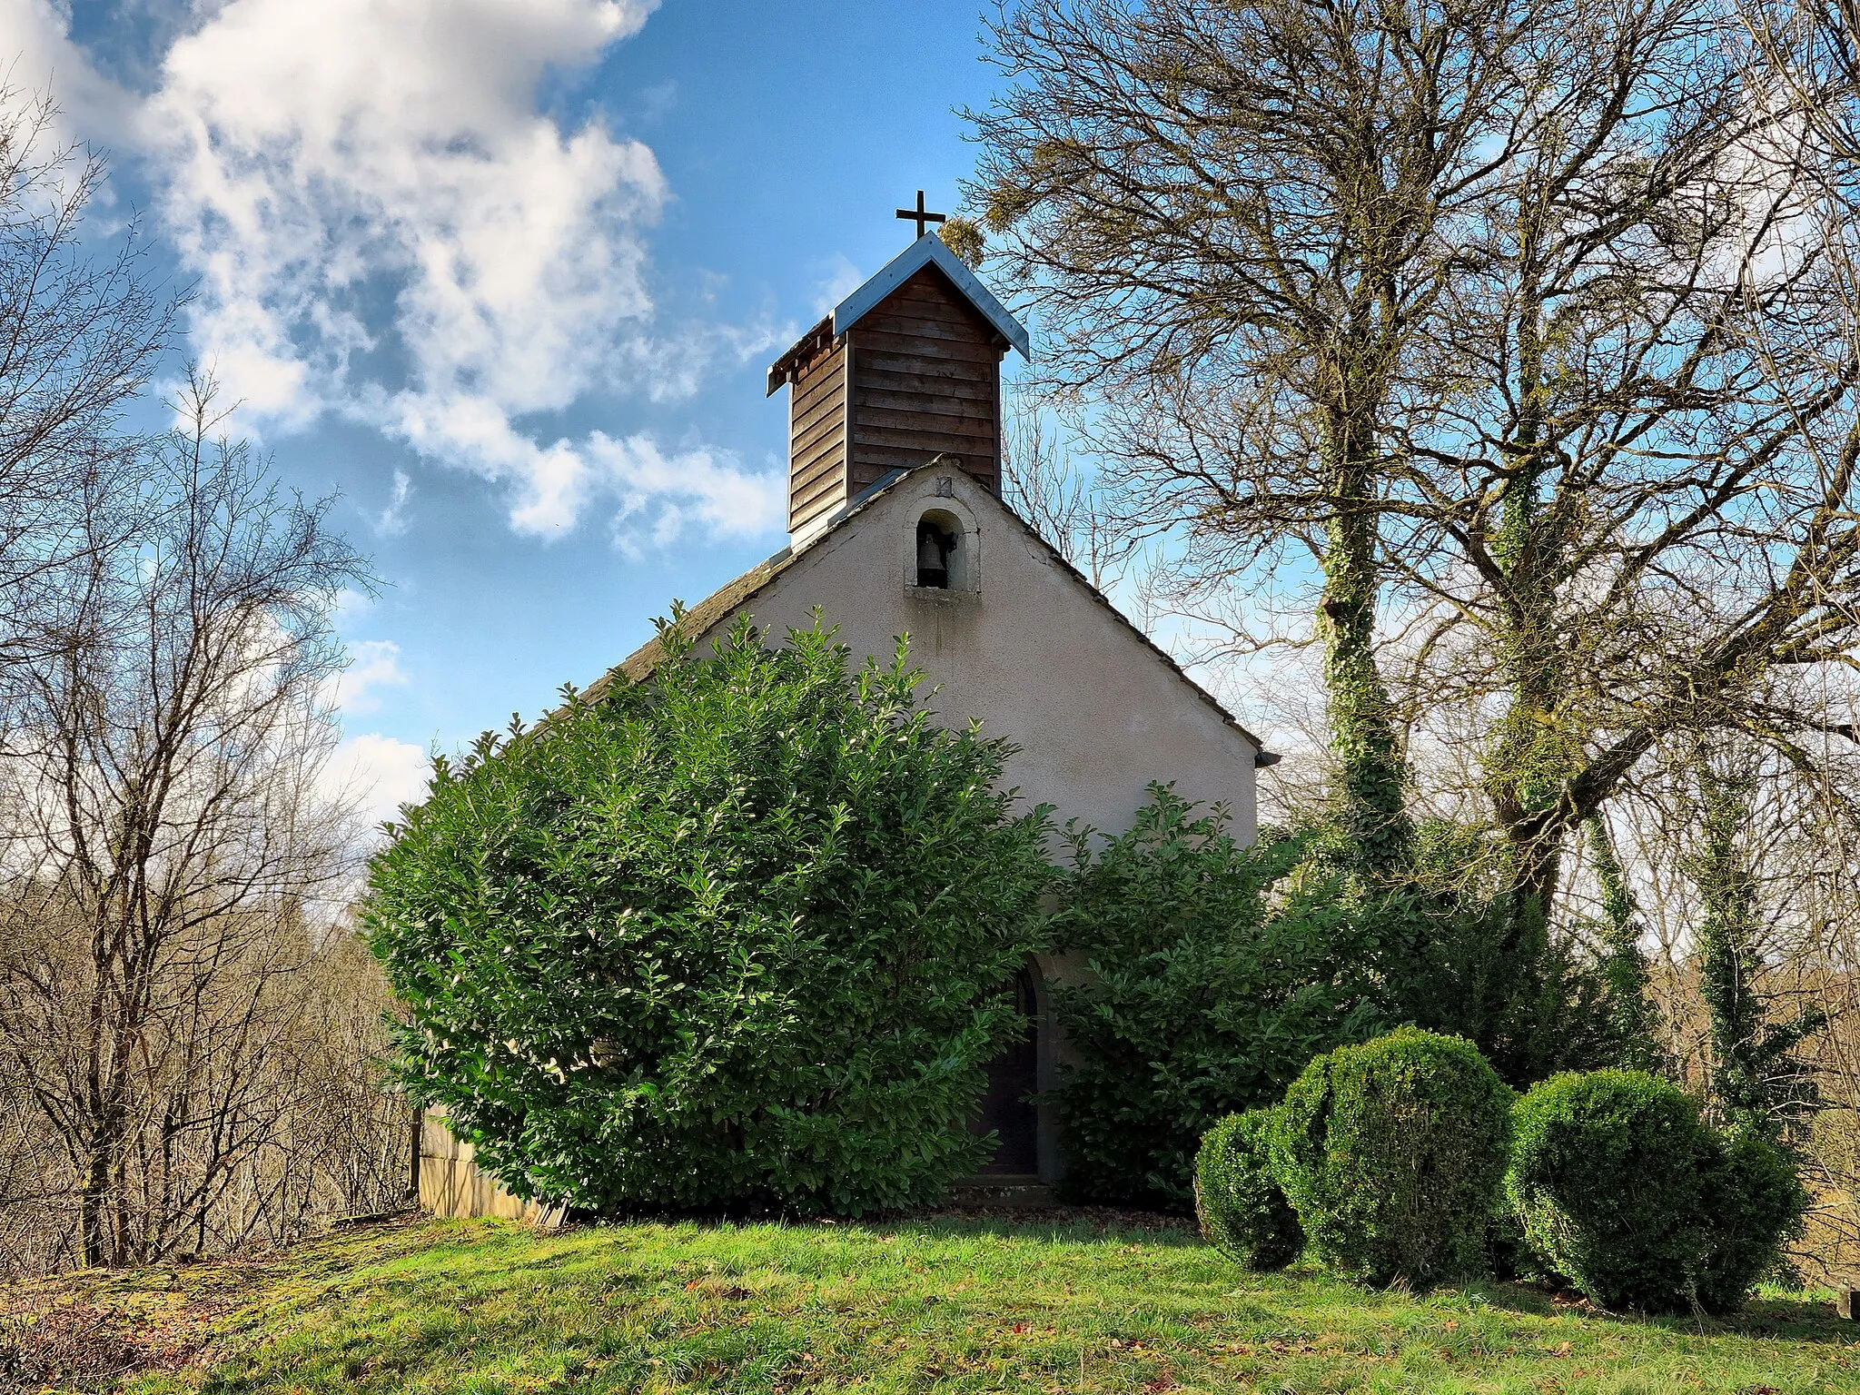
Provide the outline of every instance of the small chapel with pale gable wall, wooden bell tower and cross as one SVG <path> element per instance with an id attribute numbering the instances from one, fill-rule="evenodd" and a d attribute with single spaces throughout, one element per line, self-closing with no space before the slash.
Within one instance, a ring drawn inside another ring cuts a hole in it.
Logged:
<path id="1" fill-rule="evenodd" d="M 921 205 L 915 216 L 934 219 Z M 789 392 L 789 545 L 692 606 L 684 634 L 707 653 L 748 614 L 779 644 L 817 606 L 856 660 L 889 660 L 908 634 L 937 720 L 978 718 L 1019 748 L 1004 779 L 1029 805 L 1118 833 L 1151 781 L 1174 781 L 1226 804 L 1233 835 L 1252 841 L 1256 772 L 1278 757 L 1003 500 L 1001 365 L 1032 344 L 923 229 L 770 365 L 768 394 Z M 616 671 L 638 683 L 662 658 L 655 638 Z M 1066 1060 L 1047 986 L 1077 971 L 1036 960 L 1012 986 L 1032 1030 L 993 1062 L 973 1122 L 1001 1144 L 971 1185 L 999 1200 L 1043 1200 L 1064 1176 L 1058 1122 L 1032 1096 Z M 443 1129 L 432 1138 L 445 1157 L 430 1159 L 422 1200 L 502 1209 L 469 1148 Z"/>

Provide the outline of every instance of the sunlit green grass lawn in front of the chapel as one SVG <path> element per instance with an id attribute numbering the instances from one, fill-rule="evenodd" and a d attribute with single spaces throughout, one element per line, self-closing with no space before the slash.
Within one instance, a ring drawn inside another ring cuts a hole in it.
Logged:
<path id="1" fill-rule="evenodd" d="M 4 1322 L 22 1341 L 46 1311 L 73 1332 L 110 1319 L 169 1367 L 119 1386 L 138 1395 L 1860 1391 L 1860 1324 L 1827 1302 L 1696 1322 L 1505 1283 L 1365 1293 L 1088 1216 L 391 1224 L 257 1261 L 0 1289 L 0 1358 Z"/>

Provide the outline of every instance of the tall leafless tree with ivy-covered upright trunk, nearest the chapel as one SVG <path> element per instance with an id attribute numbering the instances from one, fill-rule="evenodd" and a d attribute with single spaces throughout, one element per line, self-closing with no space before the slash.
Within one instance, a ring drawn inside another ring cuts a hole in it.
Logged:
<path id="1" fill-rule="evenodd" d="M 1311 549 L 1345 844 L 1369 872 L 1408 826 L 1375 657 L 1386 432 L 1453 273 L 1443 232 L 1527 115 L 1512 52 L 1564 9 L 1027 0 L 995 26 L 1010 86 L 973 115 L 973 195 L 1045 311 L 1056 381 L 1135 415 L 1153 526 L 1231 571 Z M 1172 409 L 1222 448 L 1157 448 Z"/>

